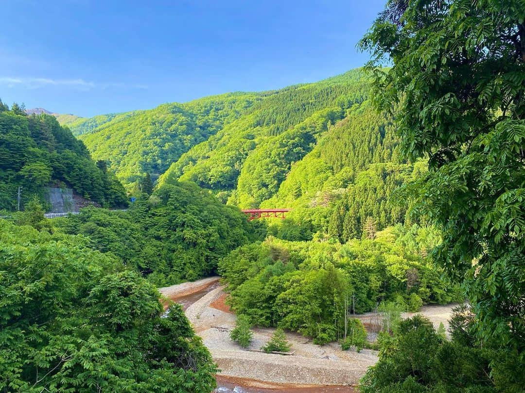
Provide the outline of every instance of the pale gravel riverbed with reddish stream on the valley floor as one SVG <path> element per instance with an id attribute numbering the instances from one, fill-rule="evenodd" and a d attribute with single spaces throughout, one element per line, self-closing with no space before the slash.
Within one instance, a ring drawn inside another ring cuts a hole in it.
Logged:
<path id="1" fill-rule="evenodd" d="M 240 348 L 228 337 L 235 326 L 235 314 L 224 311 L 225 292 L 223 286 L 217 286 L 218 279 L 206 278 L 159 289 L 163 296 L 183 305 L 195 332 L 203 339 L 221 369 L 217 375 L 217 392 L 233 391 L 229 389 L 235 387 L 242 389 L 236 391 L 247 393 L 353 392 L 366 369 L 377 362 L 376 351 L 341 351 L 338 345 L 315 345 L 307 337 L 292 332 L 287 333 L 294 351 L 292 356 L 249 352 L 258 350 L 270 339 L 275 329 L 268 328 L 255 329 L 250 347 Z M 440 323 L 448 325 L 454 306 L 424 307 L 419 314 L 429 317 L 437 329 Z M 409 313 L 403 317 L 411 318 L 413 315 Z M 358 318 L 367 323 L 377 315 L 365 313 L 358 315 Z"/>

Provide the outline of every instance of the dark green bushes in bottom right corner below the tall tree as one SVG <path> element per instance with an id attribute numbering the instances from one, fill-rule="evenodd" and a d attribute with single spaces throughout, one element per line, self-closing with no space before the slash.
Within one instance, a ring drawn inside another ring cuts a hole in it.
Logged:
<path id="1" fill-rule="evenodd" d="M 519 365 L 505 351 L 476 345 L 469 308 L 454 309 L 451 341 L 423 316 L 399 323 L 393 337 L 380 335 L 379 362 L 361 380 L 363 393 L 520 392 Z M 518 367 L 518 369 L 516 369 Z"/>

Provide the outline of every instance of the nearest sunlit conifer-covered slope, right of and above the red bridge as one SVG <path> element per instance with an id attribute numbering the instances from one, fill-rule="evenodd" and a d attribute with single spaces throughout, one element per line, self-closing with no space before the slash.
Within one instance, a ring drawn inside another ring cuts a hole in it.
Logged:
<path id="1" fill-rule="evenodd" d="M 416 171 L 421 170 L 417 165 Z M 290 220 L 306 220 L 311 231 L 346 241 L 361 237 L 369 216 L 377 229 L 404 220 L 405 208 L 394 203 L 392 193 L 413 171 L 400 158 L 390 119 L 365 101 L 350 108 L 302 160 L 292 163 L 278 190 L 260 206 L 291 208 Z M 241 193 L 239 179 L 234 195 Z"/>

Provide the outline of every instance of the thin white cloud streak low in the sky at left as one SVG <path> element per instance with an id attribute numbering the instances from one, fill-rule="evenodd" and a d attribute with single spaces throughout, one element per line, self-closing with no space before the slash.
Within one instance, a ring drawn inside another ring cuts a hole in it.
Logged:
<path id="1" fill-rule="evenodd" d="M 13 88 L 15 86 L 24 86 L 27 89 L 39 89 L 46 86 L 69 86 L 70 88 L 78 90 L 91 90 L 91 89 L 148 89 L 146 85 L 139 84 L 126 84 L 126 83 L 95 83 L 88 82 L 83 79 L 50 79 L 50 78 L 12 78 L 12 77 L 0 77 L 0 85 Z"/>

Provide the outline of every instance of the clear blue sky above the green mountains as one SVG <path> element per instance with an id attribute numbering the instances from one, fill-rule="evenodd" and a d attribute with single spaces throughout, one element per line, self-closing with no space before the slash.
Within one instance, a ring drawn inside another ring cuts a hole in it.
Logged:
<path id="1" fill-rule="evenodd" d="M 0 13 L 0 98 L 93 116 L 360 67 L 368 1 L 21 1 Z"/>

